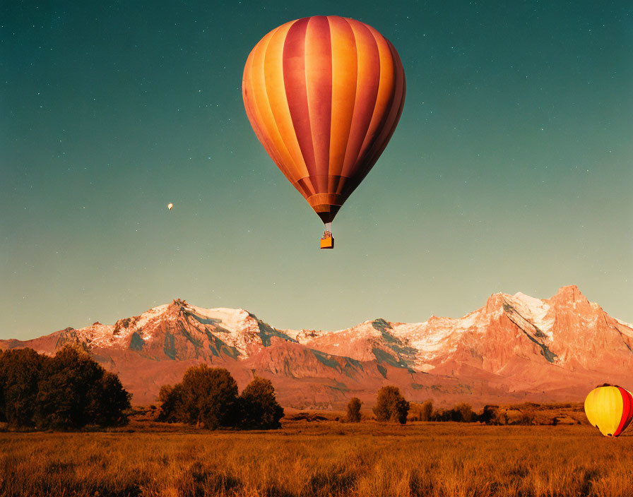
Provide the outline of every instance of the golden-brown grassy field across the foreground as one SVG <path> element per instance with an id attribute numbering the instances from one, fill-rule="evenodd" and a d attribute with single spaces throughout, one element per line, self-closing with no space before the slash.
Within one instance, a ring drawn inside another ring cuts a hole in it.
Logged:
<path id="1" fill-rule="evenodd" d="M 586 425 L 159 429 L 0 433 L 0 496 L 633 495 L 633 434 Z"/>

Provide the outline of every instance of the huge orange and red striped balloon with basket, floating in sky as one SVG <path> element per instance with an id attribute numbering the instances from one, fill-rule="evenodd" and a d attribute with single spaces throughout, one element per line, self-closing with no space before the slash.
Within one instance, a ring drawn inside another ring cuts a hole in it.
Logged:
<path id="1" fill-rule="evenodd" d="M 405 78 L 394 45 L 360 21 L 292 20 L 255 45 L 242 96 L 266 152 L 325 224 L 372 169 L 402 113 Z"/>

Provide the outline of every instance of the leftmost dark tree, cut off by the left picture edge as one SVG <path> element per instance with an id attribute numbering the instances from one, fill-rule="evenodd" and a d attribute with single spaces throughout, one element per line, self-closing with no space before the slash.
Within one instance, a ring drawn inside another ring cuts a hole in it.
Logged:
<path id="1" fill-rule="evenodd" d="M 33 349 L 0 352 L 0 419 L 13 426 L 34 424 L 37 385 L 49 360 Z"/>

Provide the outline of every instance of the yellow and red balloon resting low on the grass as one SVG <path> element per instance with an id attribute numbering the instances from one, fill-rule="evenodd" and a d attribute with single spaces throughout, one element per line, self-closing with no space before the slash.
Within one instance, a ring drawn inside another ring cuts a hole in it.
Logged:
<path id="1" fill-rule="evenodd" d="M 633 418 L 633 395 L 618 386 L 596 387 L 585 399 L 585 414 L 604 436 L 618 436 Z"/>

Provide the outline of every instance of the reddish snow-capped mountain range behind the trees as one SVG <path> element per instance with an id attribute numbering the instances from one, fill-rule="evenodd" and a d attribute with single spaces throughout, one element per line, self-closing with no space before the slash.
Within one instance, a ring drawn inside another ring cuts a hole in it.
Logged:
<path id="1" fill-rule="evenodd" d="M 280 330 L 244 309 L 204 309 L 176 299 L 114 325 L 66 328 L 0 349 L 54 354 L 71 342 L 119 374 L 133 402 L 155 401 L 191 365 L 229 369 L 240 388 L 270 378 L 285 407 L 372 405 L 383 385 L 409 400 L 582 400 L 598 383 L 633 387 L 633 326 L 610 317 L 575 286 L 550 299 L 492 294 L 462 318 L 424 323 L 378 318 L 338 331 Z M 630 378 L 630 379 L 629 379 Z"/>

